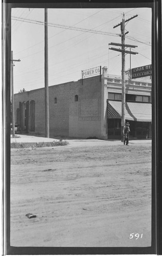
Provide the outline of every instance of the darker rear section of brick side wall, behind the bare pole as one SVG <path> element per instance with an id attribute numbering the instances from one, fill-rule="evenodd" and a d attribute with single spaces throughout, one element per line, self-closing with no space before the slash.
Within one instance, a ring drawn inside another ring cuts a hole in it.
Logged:
<path id="1" fill-rule="evenodd" d="M 59 84 L 49 87 L 49 119 L 50 137 L 68 136 L 69 117 L 69 88 L 73 82 Z M 57 97 L 57 103 L 54 98 Z M 15 100 L 15 120 L 16 109 L 20 102 L 35 101 L 35 133 L 44 136 L 45 112 L 44 112 L 44 88 L 32 90 L 14 95 Z"/>

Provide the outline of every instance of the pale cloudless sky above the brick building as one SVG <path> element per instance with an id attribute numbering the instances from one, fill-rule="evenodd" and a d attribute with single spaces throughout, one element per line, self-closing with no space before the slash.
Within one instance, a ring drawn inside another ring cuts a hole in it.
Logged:
<path id="1" fill-rule="evenodd" d="M 131 54 L 131 68 L 150 65 L 151 8 L 48 9 L 49 86 L 77 81 L 81 79 L 82 70 L 98 66 L 106 66 L 108 74 L 121 75 L 121 52 L 110 50 L 109 47 L 115 46 L 109 46 L 109 43 L 121 43 L 120 26 L 113 26 L 122 22 L 123 13 L 125 20 L 138 15 L 125 26 L 125 32 L 129 31 L 125 44 L 137 46 L 132 51 L 138 52 Z M 11 16 L 13 59 L 21 60 L 14 62 L 14 93 L 23 88 L 26 91 L 42 88 L 44 9 L 14 8 Z M 99 34 L 99 31 L 106 34 Z M 125 68 L 130 68 L 129 54 L 126 55 Z"/>

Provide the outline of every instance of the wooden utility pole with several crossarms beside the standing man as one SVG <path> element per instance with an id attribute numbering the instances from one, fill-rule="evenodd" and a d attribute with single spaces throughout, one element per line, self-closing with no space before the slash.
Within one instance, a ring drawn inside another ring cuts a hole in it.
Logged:
<path id="1" fill-rule="evenodd" d="M 113 51 L 118 51 L 118 52 L 122 52 L 122 120 L 121 120 L 121 141 L 124 140 L 123 137 L 123 128 L 125 125 L 125 54 L 137 54 L 137 52 L 131 52 L 131 51 L 126 51 L 125 47 L 131 47 L 131 48 L 135 48 L 137 46 L 132 46 L 132 45 L 125 45 L 125 35 L 127 33 L 129 33 L 128 31 L 125 33 L 125 23 L 128 22 L 130 19 L 137 17 L 138 15 L 135 15 L 127 20 L 125 20 L 125 15 L 123 13 L 123 18 L 122 18 L 122 22 L 116 26 L 114 26 L 113 28 L 116 28 L 118 26 L 121 26 L 121 38 L 122 38 L 122 44 L 115 44 L 115 43 L 110 43 L 109 45 L 115 45 L 115 46 L 121 46 L 122 49 L 117 49 L 117 48 L 109 48 L 110 50 Z"/>

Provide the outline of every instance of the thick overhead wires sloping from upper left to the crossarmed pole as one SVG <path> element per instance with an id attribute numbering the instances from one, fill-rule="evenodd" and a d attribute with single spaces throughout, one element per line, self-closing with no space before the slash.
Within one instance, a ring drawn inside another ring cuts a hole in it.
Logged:
<path id="1" fill-rule="evenodd" d="M 33 20 L 33 19 L 27 19 L 27 18 L 11 17 L 11 19 L 17 20 L 19 22 L 27 22 L 27 23 L 33 23 L 33 24 L 38 24 L 38 25 L 44 25 L 45 24 L 44 22 L 41 22 L 39 20 Z M 54 23 L 47 23 L 45 25 L 48 25 L 50 27 L 55 27 L 55 28 L 77 30 L 77 31 L 96 33 L 96 34 L 101 34 L 101 35 L 119 36 L 118 34 L 115 34 L 115 33 L 99 31 L 99 30 L 92 30 L 92 29 L 76 28 L 76 27 L 72 27 L 72 26 L 66 26 L 66 25 L 60 25 L 60 24 L 54 24 Z"/>

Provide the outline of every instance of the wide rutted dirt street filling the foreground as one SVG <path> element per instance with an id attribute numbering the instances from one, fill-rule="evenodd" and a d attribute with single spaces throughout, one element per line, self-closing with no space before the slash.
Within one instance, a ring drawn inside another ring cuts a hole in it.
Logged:
<path id="1" fill-rule="evenodd" d="M 11 149 L 11 246 L 151 246 L 151 141 Z"/>

